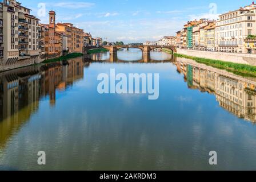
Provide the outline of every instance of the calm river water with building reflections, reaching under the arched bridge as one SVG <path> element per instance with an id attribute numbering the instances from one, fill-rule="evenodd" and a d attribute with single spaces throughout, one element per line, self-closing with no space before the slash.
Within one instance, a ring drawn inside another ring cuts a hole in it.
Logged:
<path id="1" fill-rule="evenodd" d="M 110 69 L 158 73 L 159 98 L 99 94 Z M 0 169 L 255 170 L 255 88 L 255 78 L 139 49 L 3 72 Z"/>

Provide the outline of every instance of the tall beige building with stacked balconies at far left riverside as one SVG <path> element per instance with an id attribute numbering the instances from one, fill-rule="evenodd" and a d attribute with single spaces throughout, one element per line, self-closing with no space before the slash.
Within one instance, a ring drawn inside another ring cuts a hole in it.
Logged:
<path id="1" fill-rule="evenodd" d="M 41 53 L 39 49 L 39 19 L 30 14 L 16 0 L 4 1 L 3 16 L 3 65 L 15 64 Z"/>

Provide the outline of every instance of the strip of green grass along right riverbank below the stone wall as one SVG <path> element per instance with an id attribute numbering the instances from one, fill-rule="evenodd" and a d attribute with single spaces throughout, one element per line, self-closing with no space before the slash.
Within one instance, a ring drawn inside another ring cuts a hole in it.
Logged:
<path id="1" fill-rule="evenodd" d="M 197 63 L 203 63 L 214 68 L 225 69 L 226 71 L 232 72 L 236 75 L 256 77 L 256 67 L 252 65 L 231 63 L 231 62 L 213 60 L 213 59 L 205 59 L 205 58 L 194 57 L 194 56 L 186 56 L 186 55 L 180 55 L 178 53 L 174 53 L 174 56 L 191 59 L 191 60 L 197 61 Z"/>

